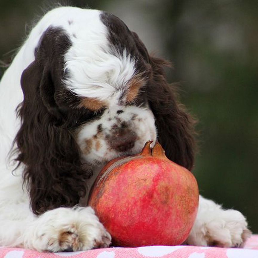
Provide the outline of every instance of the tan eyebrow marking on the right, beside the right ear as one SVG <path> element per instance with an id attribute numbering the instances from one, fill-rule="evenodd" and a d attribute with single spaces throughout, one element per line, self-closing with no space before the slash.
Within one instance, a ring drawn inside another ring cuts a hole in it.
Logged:
<path id="1" fill-rule="evenodd" d="M 126 102 L 131 103 L 138 96 L 139 90 L 146 84 L 146 79 L 140 75 L 134 76 L 128 82 L 128 91 L 126 93 Z"/>

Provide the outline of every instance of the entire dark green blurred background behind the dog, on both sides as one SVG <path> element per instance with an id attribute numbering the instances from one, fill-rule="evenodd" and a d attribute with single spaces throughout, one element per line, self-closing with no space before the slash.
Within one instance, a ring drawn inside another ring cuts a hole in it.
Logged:
<path id="1" fill-rule="evenodd" d="M 64 2 L 63 2 L 64 4 Z M 258 1 L 74 0 L 111 12 L 170 60 L 170 82 L 199 120 L 193 173 L 200 193 L 234 208 L 258 233 Z M 0 0 L 0 59 L 11 60 L 50 1 Z M 4 68 L 1 68 L 1 75 Z"/>

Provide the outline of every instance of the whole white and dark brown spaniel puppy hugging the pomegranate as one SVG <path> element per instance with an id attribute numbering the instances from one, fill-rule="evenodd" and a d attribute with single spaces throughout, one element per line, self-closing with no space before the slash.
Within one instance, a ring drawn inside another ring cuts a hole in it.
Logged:
<path id="1" fill-rule="evenodd" d="M 108 13 L 59 7 L 39 21 L 1 79 L 1 246 L 108 247 L 110 234 L 85 207 L 90 185 L 106 162 L 148 140 L 193 168 L 193 120 L 165 64 Z M 188 244 L 242 246 L 249 235 L 240 212 L 200 196 Z"/>

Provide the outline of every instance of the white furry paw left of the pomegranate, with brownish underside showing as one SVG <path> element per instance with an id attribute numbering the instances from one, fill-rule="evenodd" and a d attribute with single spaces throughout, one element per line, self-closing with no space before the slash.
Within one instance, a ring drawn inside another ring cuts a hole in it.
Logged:
<path id="1" fill-rule="evenodd" d="M 37 218 L 26 232 L 24 247 L 37 251 L 82 251 L 105 248 L 111 236 L 92 208 L 57 208 Z"/>

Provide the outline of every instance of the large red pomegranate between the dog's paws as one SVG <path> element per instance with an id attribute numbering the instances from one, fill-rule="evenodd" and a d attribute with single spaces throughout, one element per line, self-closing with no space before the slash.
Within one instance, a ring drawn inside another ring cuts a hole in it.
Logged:
<path id="1" fill-rule="evenodd" d="M 180 245 L 196 218 L 193 174 L 170 161 L 159 143 L 150 145 L 110 161 L 93 185 L 88 204 L 115 246 Z"/>

